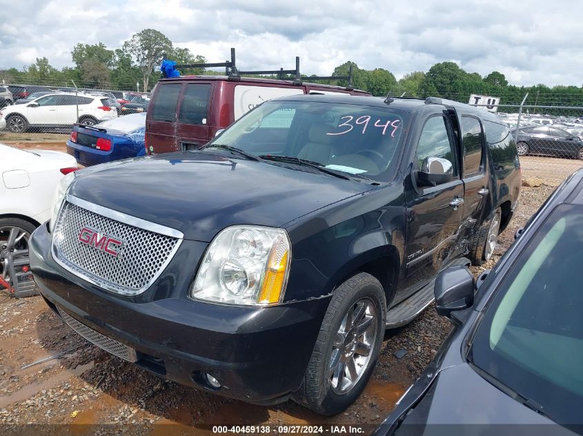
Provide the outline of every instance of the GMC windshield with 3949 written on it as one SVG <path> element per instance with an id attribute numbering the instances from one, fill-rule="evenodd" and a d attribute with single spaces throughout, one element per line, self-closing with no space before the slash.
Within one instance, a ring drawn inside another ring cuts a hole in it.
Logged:
<path id="1" fill-rule="evenodd" d="M 408 114 L 390 107 L 270 101 L 240 118 L 208 146 L 255 156 L 291 156 L 328 169 L 388 180 Z"/>

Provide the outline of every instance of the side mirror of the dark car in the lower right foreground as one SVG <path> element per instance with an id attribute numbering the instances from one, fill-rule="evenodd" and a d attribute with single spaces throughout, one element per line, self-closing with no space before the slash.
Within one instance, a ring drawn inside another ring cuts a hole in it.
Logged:
<path id="1" fill-rule="evenodd" d="M 435 278 L 435 309 L 442 316 L 461 311 L 474 303 L 475 284 L 470 271 L 462 265 L 446 268 Z"/>

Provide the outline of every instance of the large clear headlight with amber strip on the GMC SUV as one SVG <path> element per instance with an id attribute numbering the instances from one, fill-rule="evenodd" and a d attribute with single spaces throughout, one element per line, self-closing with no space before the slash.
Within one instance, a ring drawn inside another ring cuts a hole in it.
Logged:
<path id="1" fill-rule="evenodd" d="M 190 295 L 226 304 L 277 304 L 291 261 L 284 229 L 233 226 L 210 243 Z"/>

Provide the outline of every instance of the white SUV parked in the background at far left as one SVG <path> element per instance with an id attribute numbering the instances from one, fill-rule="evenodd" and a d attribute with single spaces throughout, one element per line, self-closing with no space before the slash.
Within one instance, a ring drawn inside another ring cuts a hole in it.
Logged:
<path id="1" fill-rule="evenodd" d="M 117 117 L 115 103 L 107 96 L 48 94 L 28 103 L 4 107 L 0 110 L 0 128 L 21 133 L 30 128 L 70 127 L 75 123 L 94 125 Z"/>

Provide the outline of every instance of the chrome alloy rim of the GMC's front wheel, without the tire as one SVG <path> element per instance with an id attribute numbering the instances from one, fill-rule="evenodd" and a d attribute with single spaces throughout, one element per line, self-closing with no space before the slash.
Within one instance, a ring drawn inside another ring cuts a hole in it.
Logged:
<path id="1" fill-rule="evenodd" d="M 355 302 L 344 315 L 328 364 L 335 393 L 348 393 L 366 371 L 375 346 L 377 317 L 375 304 L 368 298 Z"/>

